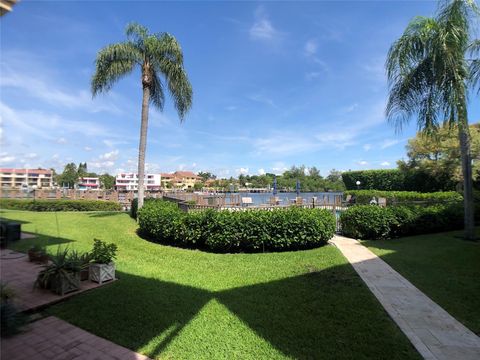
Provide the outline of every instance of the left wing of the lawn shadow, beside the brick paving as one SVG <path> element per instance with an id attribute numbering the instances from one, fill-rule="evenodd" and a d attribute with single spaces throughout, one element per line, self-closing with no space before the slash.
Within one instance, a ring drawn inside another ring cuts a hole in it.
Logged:
<path id="1" fill-rule="evenodd" d="M 49 312 L 117 344 L 158 356 L 212 293 L 117 271 L 114 284 L 74 297 Z"/>

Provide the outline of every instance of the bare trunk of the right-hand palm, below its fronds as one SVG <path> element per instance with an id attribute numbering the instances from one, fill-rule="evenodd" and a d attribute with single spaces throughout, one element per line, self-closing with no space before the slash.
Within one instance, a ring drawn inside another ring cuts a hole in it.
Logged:
<path id="1" fill-rule="evenodd" d="M 462 110 L 465 107 L 462 107 Z M 464 226 L 465 239 L 475 239 L 475 219 L 473 207 L 473 176 L 472 160 L 470 156 L 470 131 L 468 128 L 466 109 L 459 111 L 458 136 L 460 139 L 460 151 L 462 158 L 463 173 L 463 202 L 465 209 Z"/>

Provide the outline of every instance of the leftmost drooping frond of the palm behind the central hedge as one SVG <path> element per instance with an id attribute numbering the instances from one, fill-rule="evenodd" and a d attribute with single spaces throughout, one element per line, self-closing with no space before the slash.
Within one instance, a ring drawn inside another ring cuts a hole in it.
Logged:
<path id="1" fill-rule="evenodd" d="M 110 90 L 118 79 L 129 74 L 141 61 L 142 54 L 131 42 L 109 45 L 100 50 L 91 82 L 93 96 Z"/>

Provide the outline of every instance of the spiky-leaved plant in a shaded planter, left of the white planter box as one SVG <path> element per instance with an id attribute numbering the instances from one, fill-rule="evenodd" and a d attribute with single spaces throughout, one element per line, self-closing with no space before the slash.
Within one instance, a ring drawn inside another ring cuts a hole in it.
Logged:
<path id="1" fill-rule="evenodd" d="M 59 248 L 39 272 L 35 285 L 63 296 L 80 288 L 80 270 L 79 264 L 70 260 L 69 250 Z"/>

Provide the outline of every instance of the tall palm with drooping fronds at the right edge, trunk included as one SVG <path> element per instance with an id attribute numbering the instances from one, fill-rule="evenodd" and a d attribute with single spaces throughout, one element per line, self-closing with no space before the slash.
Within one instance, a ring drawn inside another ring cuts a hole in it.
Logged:
<path id="1" fill-rule="evenodd" d="M 416 17 L 391 46 L 386 70 L 390 85 L 386 114 L 397 129 L 413 116 L 426 133 L 441 122 L 457 125 L 464 182 L 465 238 L 474 239 L 472 165 L 467 95 L 472 71 L 473 0 L 442 1 L 436 17 Z"/>

